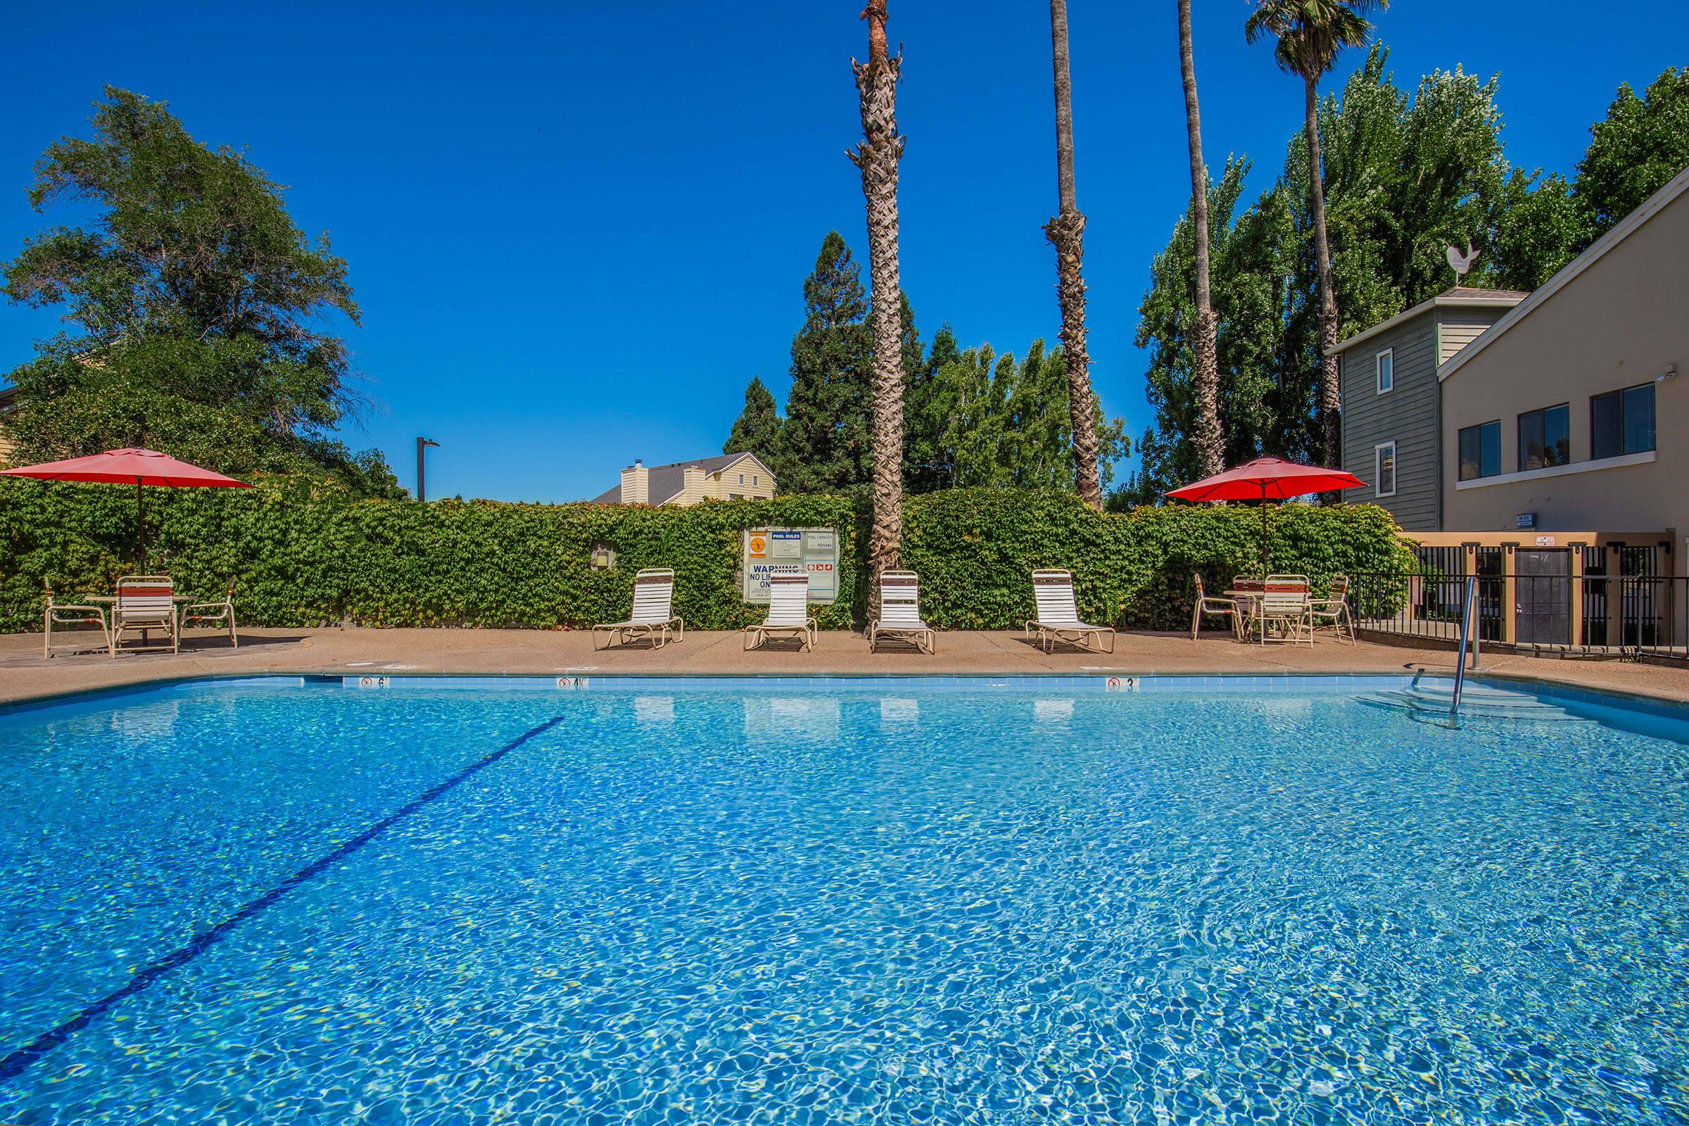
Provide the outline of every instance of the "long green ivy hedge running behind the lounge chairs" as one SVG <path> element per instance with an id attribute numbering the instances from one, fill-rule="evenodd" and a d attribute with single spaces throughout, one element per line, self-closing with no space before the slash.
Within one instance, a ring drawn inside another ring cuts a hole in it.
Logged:
<path id="1" fill-rule="evenodd" d="M 1404 571 L 1412 559 L 1387 512 L 1287 505 L 1272 520 L 1274 571 L 1316 581 Z M 691 508 L 358 500 L 309 478 L 252 490 L 147 490 L 155 552 L 179 587 L 218 596 L 235 581 L 255 626 L 579 628 L 627 614 L 633 572 L 674 567 L 689 626 L 757 621 L 740 599 L 740 533 L 763 525 L 836 527 L 839 591 L 823 628 L 860 623 L 868 540 L 865 496 L 782 496 Z M 132 571 L 133 490 L 0 479 L 0 630 L 39 630 L 42 589 L 110 593 Z M 591 567 L 595 544 L 616 566 Z M 1138 508 L 1098 515 L 1059 491 L 958 490 L 910 496 L 904 562 L 922 576 L 939 628 L 1012 628 L 1032 608 L 1027 574 L 1071 567 L 1098 621 L 1179 628 L 1191 572 L 1219 586 L 1260 552 L 1253 508 Z M 157 555 L 154 557 L 157 562 Z"/>

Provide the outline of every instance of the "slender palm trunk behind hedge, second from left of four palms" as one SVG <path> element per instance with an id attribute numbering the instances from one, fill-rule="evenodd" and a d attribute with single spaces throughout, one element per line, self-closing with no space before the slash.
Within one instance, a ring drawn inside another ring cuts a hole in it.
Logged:
<path id="1" fill-rule="evenodd" d="M 1073 189 L 1073 79 L 1067 74 L 1067 0 L 1051 0 L 1051 42 L 1056 54 L 1056 187 L 1061 209 L 1044 225 L 1056 246 L 1056 294 L 1061 299 L 1061 348 L 1067 365 L 1067 417 L 1079 496 L 1103 508 L 1096 471 L 1096 398 L 1091 395 L 1091 356 L 1084 349 L 1084 216 Z"/>

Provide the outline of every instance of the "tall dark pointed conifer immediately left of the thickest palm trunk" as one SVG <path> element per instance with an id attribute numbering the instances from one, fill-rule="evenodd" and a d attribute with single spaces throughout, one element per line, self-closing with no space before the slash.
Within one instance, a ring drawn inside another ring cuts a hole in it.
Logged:
<path id="1" fill-rule="evenodd" d="M 804 280 L 804 328 L 792 339 L 792 390 L 775 466 L 787 491 L 839 490 L 870 478 L 866 316 L 861 267 L 844 238 L 829 231 Z"/>

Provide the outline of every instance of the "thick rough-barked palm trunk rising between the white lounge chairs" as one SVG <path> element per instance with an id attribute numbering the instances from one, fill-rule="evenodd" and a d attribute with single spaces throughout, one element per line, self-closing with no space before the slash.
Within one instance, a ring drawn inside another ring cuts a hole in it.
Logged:
<path id="1" fill-rule="evenodd" d="M 868 0 L 868 61 L 851 66 L 861 96 L 861 143 L 850 159 L 868 201 L 868 326 L 873 334 L 873 525 L 868 533 L 870 604 L 880 574 L 895 571 L 904 535 L 904 317 L 897 277 L 897 78 L 904 57 L 885 47 L 885 0 Z"/>

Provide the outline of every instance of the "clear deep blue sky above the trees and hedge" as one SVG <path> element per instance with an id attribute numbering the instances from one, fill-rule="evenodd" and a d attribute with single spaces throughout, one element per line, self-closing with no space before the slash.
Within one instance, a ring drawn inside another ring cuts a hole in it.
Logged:
<path id="1" fill-rule="evenodd" d="M 29 5 L 0 46 L 0 255 L 39 230 L 41 150 L 111 83 L 245 147 L 363 306 L 373 400 L 353 447 L 429 493 L 562 501 L 718 452 L 760 375 L 784 403 L 801 282 L 828 230 L 866 258 L 844 159 L 860 133 L 860 0 L 549 5 Z M 922 336 L 1020 353 L 1059 324 L 1049 8 L 892 0 L 904 42 L 902 273 Z M 1493 12 L 1490 17 L 1486 12 Z M 1529 12 L 1522 15 L 1522 12 Z M 1277 174 L 1301 91 L 1243 44 L 1245 0 L 1194 0 L 1208 160 Z M 1094 383 L 1137 436 L 1150 257 L 1186 204 L 1176 7 L 1069 0 Z M 1404 84 L 1500 74 L 1508 157 L 1569 171 L 1615 88 L 1689 62 L 1689 5 L 1402 0 L 1378 17 Z M 1341 83 L 1351 56 L 1329 79 Z M 74 221 L 74 213 L 56 214 Z M 0 371 L 54 316 L 0 306 Z"/>

